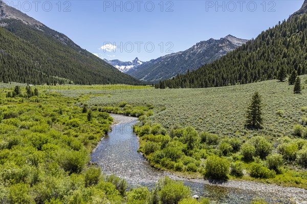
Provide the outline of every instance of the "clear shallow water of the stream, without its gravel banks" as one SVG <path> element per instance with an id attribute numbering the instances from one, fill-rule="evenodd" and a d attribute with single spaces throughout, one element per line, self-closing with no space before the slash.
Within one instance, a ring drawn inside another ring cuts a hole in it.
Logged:
<path id="1" fill-rule="evenodd" d="M 91 161 L 101 166 L 104 174 L 115 174 L 124 178 L 130 187 L 155 187 L 155 183 L 166 174 L 151 167 L 139 149 L 139 139 L 133 132 L 137 122 L 117 124 L 99 143 L 91 155 Z M 272 193 L 225 188 L 200 182 L 185 181 L 193 194 L 210 198 L 212 203 L 249 203 L 253 198 L 261 197 L 269 203 L 293 203 L 289 197 L 272 195 Z"/>

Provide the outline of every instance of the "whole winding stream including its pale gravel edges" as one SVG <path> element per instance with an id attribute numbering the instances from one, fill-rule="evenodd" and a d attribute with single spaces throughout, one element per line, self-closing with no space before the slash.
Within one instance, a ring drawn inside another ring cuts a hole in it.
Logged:
<path id="1" fill-rule="evenodd" d="M 210 198 L 212 203 L 249 203 L 261 197 L 269 203 L 307 203 L 307 190 L 283 188 L 255 182 L 229 181 L 213 184 L 206 180 L 185 180 L 149 165 L 139 149 L 139 139 L 133 133 L 137 118 L 112 115 L 117 124 L 99 143 L 91 155 L 91 161 L 101 166 L 104 174 L 115 174 L 125 179 L 130 187 L 155 187 L 164 176 L 184 181 L 193 194 Z"/>

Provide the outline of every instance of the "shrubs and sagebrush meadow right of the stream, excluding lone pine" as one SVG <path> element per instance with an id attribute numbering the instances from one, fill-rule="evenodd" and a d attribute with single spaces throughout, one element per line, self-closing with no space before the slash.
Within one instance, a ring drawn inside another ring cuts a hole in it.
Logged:
<path id="1" fill-rule="evenodd" d="M 301 94 L 294 94 L 287 82 L 272 80 L 225 88 L 115 91 L 93 96 L 87 103 L 116 104 L 109 111 L 118 114 L 131 115 L 126 110 L 131 107 L 140 110 L 141 115 L 132 114 L 141 121 L 134 130 L 140 136 L 140 151 L 156 168 L 185 177 L 306 189 L 306 76 L 300 78 Z M 249 129 L 246 111 L 255 91 L 264 104 L 263 124 Z M 101 91 L 83 90 L 90 92 Z"/>

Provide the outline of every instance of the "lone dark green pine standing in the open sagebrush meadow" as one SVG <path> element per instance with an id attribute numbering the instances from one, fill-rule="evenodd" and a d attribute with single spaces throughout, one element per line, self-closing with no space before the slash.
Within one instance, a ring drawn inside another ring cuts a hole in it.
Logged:
<path id="1" fill-rule="evenodd" d="M 258 91 L 254 93 L 251 99 L 251 104 L 247 109 L 247 126 L 253 127 L 261 127 L 263 119 L 262 119 L 262 99 Z"/>

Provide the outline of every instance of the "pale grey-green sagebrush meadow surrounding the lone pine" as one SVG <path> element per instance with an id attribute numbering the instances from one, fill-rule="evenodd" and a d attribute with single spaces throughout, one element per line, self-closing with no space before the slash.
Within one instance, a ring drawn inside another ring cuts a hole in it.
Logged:
<path id="1" fill-rule="evenodd" d="M 307 76 L 302 76 L 304 84 Z M 206 131 L 231 137 L 250 137 L 254 134 L 269 138 L 292 134 L 292 127 L 306 117 L 307 90 L 293 94 L 293 86 L 276 80 L 254 84 L 206 88 L 206 89 L 82 89 L 53 90 L 65 96 L 89 95 L 89 105 L 114 106 L 126 101 L 142 106 L 151 103 L 163 108 L 149 119 L 161 123 L 167 129 L 175 124 L 193 126 L 197 131 Z M 251 95 L 259 91 L 264 103 L 264 129 L 246 130 L 245 111 Z M 96 95 L 96 96 L 95 96 Z"/>

